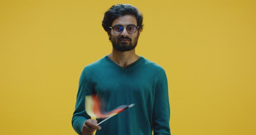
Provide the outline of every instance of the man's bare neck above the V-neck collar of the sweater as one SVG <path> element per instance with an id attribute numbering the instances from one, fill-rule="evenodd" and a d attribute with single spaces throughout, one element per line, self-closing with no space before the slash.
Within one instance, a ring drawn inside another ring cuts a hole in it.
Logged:
<path id="1" fill-rule="evenodd" d="M 120 67 L 128 67 L 130 64 L 134 63 L 139 59 L 139 56 L 135 54 L 135 49 L 131 51 L 116 51 L 112 50 L 111 54 L 108 57 L 118 64 Z"/>

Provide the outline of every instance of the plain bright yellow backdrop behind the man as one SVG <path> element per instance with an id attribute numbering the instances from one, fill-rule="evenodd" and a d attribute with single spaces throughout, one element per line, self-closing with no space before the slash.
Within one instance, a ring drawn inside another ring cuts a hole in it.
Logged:
<path id="1" fill-rule="evenodd" d="M 144 14 L 136 52 L 167 73 L 172 135 L 256 135 L 255 0 L 0 0 L 0 135 L 76 135 L 79 76 L 111 52 L 117 3 Z"/>

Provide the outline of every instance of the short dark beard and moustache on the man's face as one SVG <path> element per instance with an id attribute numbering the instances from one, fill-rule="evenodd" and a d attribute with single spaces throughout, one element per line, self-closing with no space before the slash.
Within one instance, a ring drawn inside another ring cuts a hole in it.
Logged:
<path id="1" fill-rule="evenodd" d="M 120 42 L 121 39 L 127 39 L 129 40 L 129 42 Z M 134 40 L 135 40 L 135 43 L 132 45 L 132 39 L 129 37 L 119 36 L 117 42 L 115 42 L 115 39 L 111 38 L 113 48 L 121 52 L 131 51 L 135 49 L 138 43 L 138 37 L 136 37 Z"/>

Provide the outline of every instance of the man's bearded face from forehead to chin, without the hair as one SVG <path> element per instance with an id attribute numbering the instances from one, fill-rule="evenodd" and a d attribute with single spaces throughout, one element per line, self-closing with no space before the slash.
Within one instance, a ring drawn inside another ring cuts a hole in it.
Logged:
<path id="1" fill-rule="evenodd" d="M 112 23 L 114 26 L 137 26 L 137 20 L 133 15 L 120 16 L 115 19 Z M 117 51 L 131 51 L 133 50 L 138 42 L 140 31 L 137 29 L 135 33 L 129 34 L 127 29 L 124 28 L 121 34 L 116 34 L 113 29 L 108 34 L 111 39 L 112 46 Z"/>

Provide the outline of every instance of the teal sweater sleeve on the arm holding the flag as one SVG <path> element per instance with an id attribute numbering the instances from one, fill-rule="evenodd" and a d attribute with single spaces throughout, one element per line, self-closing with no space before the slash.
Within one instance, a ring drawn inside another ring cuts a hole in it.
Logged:
<path id="1" fill-rule="evenodd" d="M 72 117 L 72 126 L 75 132 L 79 135 L 82 135 L 82 125 L 87 119 L 91 117 L 85 112 L 85 95 L 92 92 L 92 88 L 89 84 L 90 74 L 86 73 L 86 69 L 82 71 L 82 74 L 79 79 L 79 88 L 76 97 L 75 111 Z"/>

